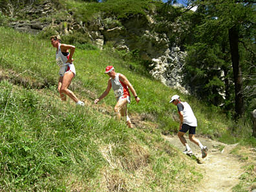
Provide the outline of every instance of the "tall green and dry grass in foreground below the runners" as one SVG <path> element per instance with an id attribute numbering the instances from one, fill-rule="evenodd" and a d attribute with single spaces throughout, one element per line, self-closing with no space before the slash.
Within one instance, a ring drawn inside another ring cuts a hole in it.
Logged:
<path id="1" fill-rule="evenodd" d="M 201 178 L 159 135 L 129 130 L 92 108 L 74 108 L 7 81 L 0 86 L 3 191 L 171 189 L 182 181 L 165 178 Z M 139 173 L 150 177 L 135 178 Z M 145 184 L 133 186 L 134 180 Z"/>

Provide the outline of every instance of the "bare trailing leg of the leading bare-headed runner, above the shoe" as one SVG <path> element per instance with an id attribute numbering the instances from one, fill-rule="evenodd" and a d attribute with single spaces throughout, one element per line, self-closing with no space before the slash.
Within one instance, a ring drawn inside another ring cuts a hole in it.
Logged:
<path id="1" fill-rule="evenodd" d="M 73 77 L 74 77 L 73 72 L 67 72 L 64 74 L 63 81 L 62 81 L 61 88 L 60 88 L 60 93 L 65 93 L 74 102 L 78 102 L 78 98 L 76 97 L 76 95 L 74 95 L 74 93 L 68 89 Z"/>

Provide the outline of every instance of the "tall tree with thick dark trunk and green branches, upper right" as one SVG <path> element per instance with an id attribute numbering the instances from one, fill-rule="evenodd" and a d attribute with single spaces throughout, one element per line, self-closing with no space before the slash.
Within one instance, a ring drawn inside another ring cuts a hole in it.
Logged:
<path id="1" fill-rule="evenodd" d="M 224 59 L 225 55 L 218 55 L 219 52 L 215 54 L 217 56 L 215 61 L 222 59 L 222 61 L 232 64 L 233 83 L 235 85 L 235 117 L 241 117 L 244 113 L 244 95 L 240 44 L 244 41 L 248 44 L 255 42 L 255 39 L 248 38 L 251 37 L 251 34 L 255 34 L 255 5 L 249 1 L 235 0 L 197 0 L 190 1 L 190 3 L 191 6 L 198 7 L 195 14 L 200 14 L 203 17 L 202 22 L 198 24 L 197 35 L 195 36 L 200 43 L 205 43 L 209 47 L 207 50 L 211 51 L 213 47 L 220 50 L 224 40 L 228 39 L 229 41 L 228 53 L 230 57 L 227 57 L 229 61 Z M 202 48 L 202 51 L 205 51 L 203 49 L 206 48 Z M 197 59 L 201 60 L 202 58 Z M 200 63 L 201 66 L 204 64 L 206 63 Z"/>

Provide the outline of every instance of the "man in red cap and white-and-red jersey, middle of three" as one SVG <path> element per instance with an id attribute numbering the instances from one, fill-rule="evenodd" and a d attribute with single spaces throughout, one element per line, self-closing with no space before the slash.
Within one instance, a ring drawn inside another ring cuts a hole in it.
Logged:
<path id="1" fill-rule="evenodd" d="M 110 77 L 107 88 L 98 99 L 95 99 L 94 103 L 97 104 L 99 101 L 101 101 L 101 99 L 106 97 L 112 87 L 117 101 L 116 106 L 114 106 L 116 118 L 118 120 L 121 120 L 121 117 L 126 118 L 126 123 L 129 128 L 133 128 L 133 124 L 131 123 L 131 120 L 127 114 L 127 103 L 131 102 L 128 88 L 133 93 L 133 96 L 137 103 L 140 102 L 140 98 L 137 96 L 136 91 L 134 90 L 128 79 L 125 77 L 125 75 L 122 75 L 121 73 L 116 73 L 113 66 L 107 66 L 105 73 L 107 73 L 107 75 L 109 75 Z"/>

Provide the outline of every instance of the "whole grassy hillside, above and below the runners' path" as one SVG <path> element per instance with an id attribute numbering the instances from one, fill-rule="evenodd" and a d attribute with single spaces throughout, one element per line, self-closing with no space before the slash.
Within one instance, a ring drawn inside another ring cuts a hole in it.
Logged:
<path id="1" fill-rule="evenodd" d="M 247 126 L 230 136 L 232 122 L 217 108 L 151 79 L 136 62 L 111 49 L 79 50 L 71 89 L 85 101 L 63 103 L 56 90 L 58 66 L 50 41 L 0 28 L 0 189 L 3 191 L 189 191 L 202 175 L 195 162 L 165 142 L 175 133 L 173 94 L 191 103 L 197 132 L 237 142 Z M 107 86 L 104 69 L 114 65 L 141 99 L 129 105 L 135 129 L 112 117 L 113 93 L 93 101 Z M 131 70 L 133 68 L 133 70 Z"/>

